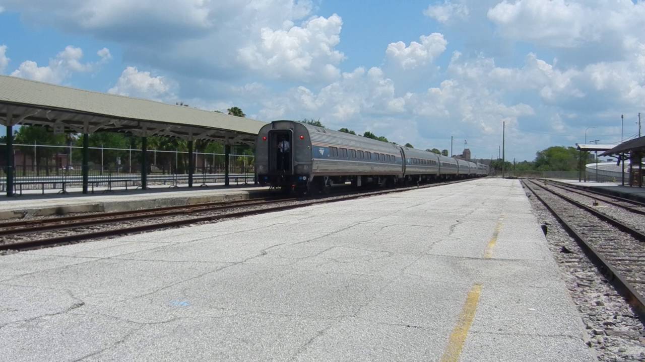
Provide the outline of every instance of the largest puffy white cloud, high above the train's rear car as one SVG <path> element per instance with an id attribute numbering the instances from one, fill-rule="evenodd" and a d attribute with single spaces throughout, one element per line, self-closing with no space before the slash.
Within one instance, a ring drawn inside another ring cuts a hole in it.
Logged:
<path id="1" fill-rule="evenodd" d="M 340 74 L 336 65 L 344 59 L 333 49 L 341 41 L 341 28 L 342 19 L 336 14 L 314 17 L 303 26 L 262 28 L 261 39 L 239 49 L 237 59 L 266 77 L 334 79 Z"/>

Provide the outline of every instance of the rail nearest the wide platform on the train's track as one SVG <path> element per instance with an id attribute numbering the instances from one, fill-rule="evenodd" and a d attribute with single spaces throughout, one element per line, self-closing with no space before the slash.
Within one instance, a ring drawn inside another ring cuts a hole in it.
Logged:
<path id="1" fill-rule="evenodd" d="M 300 204 L 292 204 L 292 205 L 282 205 L 282 206 L 276 206 L 276 207 L 268 207 L 265 209 L 253 209 L 253 210 L 247 210 L 247 211 L 239 211 L 237 213 L 226 213 L 226 214 L 218 214 L 218 215 L 210 215 L 210 216 L 199 216 L 195 218 L 186 218 L 183 220 L 173 220 L 170 222 L 160 222 L 156 224 L 146 224 L 146 225 L 137 225 L 137 226 L 132 226 L 132 227 L 124 227 L 121 229 L 111 229 L 111 230 L 102 230 L 102 231 L 94 231 L 90 233 L 78 233 L 78 234 L 69 234 L 69 235 L 64 235 L 64 236 L 55 236 L 52 238 L 43 238 L 39 240 L 28 240 L 25 242 L 17 242 L 17 243 L 5 243 L 0 245 L 0 251 L 7 251 L 7 250 L 29 250 L 29 249 L 37 249 L 39 247 L 45 247 L 45 246 L 55 246 L 55 245 L 64 245 L 68 243 L 75 243 L 75 242 L 81 242 L 83 240 L 90 240 L 90 239 L 95 239 L 95 238 L 105 238 L 108 236 L 121 236 L 121 235 L 126 235 L 126 234 L 133 234 L 133 233 L 141 233 L 143 231 L 152 231 L 152 230 L 157 230 L 157 229 L 166 229 L 170 227 L 179 227 L 183 225 L 190 225 L 190 224 L 195 224 L 199 222 L 212 222 L 212 221 L 217 221 L 217 220 L 222 220 L 226 218 L 239 218 L 243 216 L 249 216 L 253 214 L 263 214 L 263 213 L 272 213 L 275 211 L 284 211 L 284 210 L 289 210 L 289 209 L 296 209 L 298 207 L 305 207 L 305 206 L 310 206 L 310 205 L 317 205 L 317 204 L 327 204 L 331 202 L 339 202 L 339 201 L 346 201 L 346 200 L 354 200 L 356 198 L 361 198 L 361 197 L 369 197 L 369 196 L 379 196 L 379 195 L 385 195 L 389 193 L 399 193 L 399 192 L 404 192 L 404 191 L 412 191 L 413 189 L 425 189 L 428 187 L 437 187 L 437 186 L 445 186 L 448 184 L 458 184 L 461 182 L 468 182 L 472 179 L 467 179 L 467 180 L 457 180 L 457 181 L 452 181 L 452 182 L 441 182 L 438 184 L 430 184 L 426 186 L 419 186 L 419 187 L 407 187 L 407 188 L 402 188 L 402 189 L 388 189 L 384 191 L 368 191 L 367 193 L 353 193 L 353 195 L 348 195 L 348 196 L 341 196 L 337 197 L 336 195 L 333 195 L 334 198 L 320 198 L 320 199 L 315 199 L 307 202 L 303 202 Z"/>

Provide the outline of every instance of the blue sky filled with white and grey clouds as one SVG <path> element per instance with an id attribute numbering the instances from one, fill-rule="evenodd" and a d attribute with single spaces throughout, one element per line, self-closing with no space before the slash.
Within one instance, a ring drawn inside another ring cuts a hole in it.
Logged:
<path id="1" fill-rule="evenodd" d="M 645 1 L 0 0 L 0 74 L 533 160 L 638 135 Z"/>

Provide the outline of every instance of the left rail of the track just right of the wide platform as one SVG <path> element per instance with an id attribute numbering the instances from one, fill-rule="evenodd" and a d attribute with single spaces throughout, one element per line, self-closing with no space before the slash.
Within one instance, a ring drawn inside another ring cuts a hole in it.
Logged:
<path id="1" fill-rule="evenodd" d="M 577 242 L 577 244 L 581 247 L 582 251 L 586 256 L 593 262 L 597 269 L 600 271 L 602 275 L 604 275 L 608 281 L 616 288 L 616 290 L 625 298 L 627 303 L 633 308 L 637 316 L 639 317 L 640 321 L 645 323 L 645 298 L 639 294 L 639 292 L 636 291 L 636 289 L 631 285 L 630 282 L 624 278 L 618 272 L 608 260 L 606 260 L 600 252 L 591 245 L 590 242 L 588 242 L 581 234 L 579 234 L 573 226 L 571 226 L 562 216 L 560 216 L 553 207 L 551 207 L 544 198 L 542 198 L 540 195 L 535 192 L 535 189 L 529 185 L 529 182 L 526 182 L 526 180 L 522 180 L 522 184 L 528 188 L 533 195 L 535 195 L 535 198 L 537 198 L 546 209 L 550 211 L 551 214 L 553 214 L 553 217 L 558 220 L 558 222 L 564 227 L 564 229 L 567 231 L 568 234 Z M 537 184 L 535 184 L 537 185 Z M 537 185 L 539 186 L 539 185 Z M 549 189 L 545 189 L 542 187 L 547 192 L 550 192 L 552 194 L 555 194 L 553 191 Z"/>

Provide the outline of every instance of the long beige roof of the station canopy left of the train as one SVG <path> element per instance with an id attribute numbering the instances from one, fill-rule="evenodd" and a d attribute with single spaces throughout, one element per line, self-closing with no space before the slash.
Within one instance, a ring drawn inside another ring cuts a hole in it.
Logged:
<path id="1" fill-rule="evenodd" d="M 28 81 L 0 75 L 0 124 L 54 131 L 134 135 L 254 144 L 264 122 L 214 111 Z"/>

